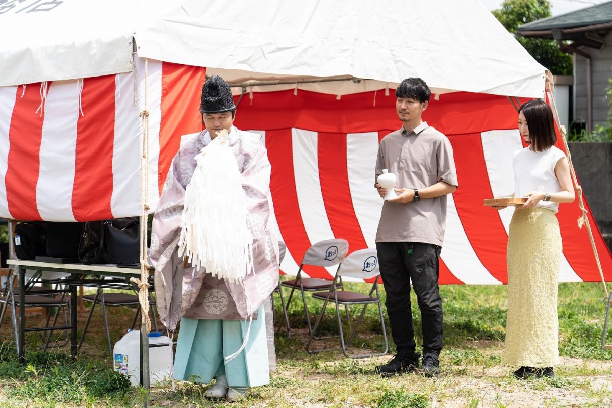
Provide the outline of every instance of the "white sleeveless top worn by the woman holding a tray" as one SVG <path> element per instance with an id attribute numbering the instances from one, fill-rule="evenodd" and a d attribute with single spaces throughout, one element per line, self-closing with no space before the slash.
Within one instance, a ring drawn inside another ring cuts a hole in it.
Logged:
<path id="1" fill-rule="evenodd" d="M 554 174 L 554 166 L 562 157 L 565 157 L 564 152 L 555 146 L 543 152 L 533 152 L 529 147 L 517 150 L 512 158 L 514 196 L 523 197 L 531 191 L 559 193 L 561 184 Z M 558 202 L 540 201 L 535 206 L 559 212 Z"/>

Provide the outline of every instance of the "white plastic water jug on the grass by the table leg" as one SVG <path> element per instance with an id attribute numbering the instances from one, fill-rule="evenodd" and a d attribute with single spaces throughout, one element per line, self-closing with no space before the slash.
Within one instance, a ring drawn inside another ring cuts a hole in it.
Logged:
<path id="1" fill-rule="evenodd" d="M 170 376 L 172 348 L 170 337 L 149 333 L 149 368 L 151 385 Z M 155 346 L 159 344 L 159 346 Z M 153 347 L 152 347 L 153 346 Z M 140 384 L 140 330 L 129 330 L 113 347 L 114 371 L 130 377 L 132 385 Z"/>

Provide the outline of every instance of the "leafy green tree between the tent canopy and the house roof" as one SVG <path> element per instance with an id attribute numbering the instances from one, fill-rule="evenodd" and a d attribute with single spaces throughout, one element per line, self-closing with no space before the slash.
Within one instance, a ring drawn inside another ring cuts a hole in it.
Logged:
<path id="1" fill-rule="evenodd" d="M 572 56 L 561 51 L 555 40 L 532 39 L 516 35 L 518 26 L 551 17 L 548 0 L 504 0 L 501 9 L 493 10 L 493 15 L 527 50 L 535 61 L 547 67 L 554 75 L 572 75 Z"/>

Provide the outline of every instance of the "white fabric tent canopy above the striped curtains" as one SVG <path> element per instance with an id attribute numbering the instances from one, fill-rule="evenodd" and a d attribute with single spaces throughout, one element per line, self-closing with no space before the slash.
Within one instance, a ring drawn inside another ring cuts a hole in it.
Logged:
<path id="1" fill-rule="evenodd" d="M 349 94 L 420 76 L 437 94 L 543 96 L 545 68 L 477 0 L 29 2 L 0 8 L 11 39 L 0 86 L 129 72 L 134 37 L 138 56 L 208 67 L 255 92 L 272 89 L 252 81 Z M 349 80 L 327 82 L 337 78 Z"/>

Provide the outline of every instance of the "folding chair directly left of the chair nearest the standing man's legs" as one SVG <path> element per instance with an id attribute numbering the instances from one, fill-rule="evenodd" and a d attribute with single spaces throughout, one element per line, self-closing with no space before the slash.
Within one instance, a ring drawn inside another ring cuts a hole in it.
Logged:
<path id="1" fill-rule="evenodd" d="M 305 292 L 316 292 L 326 291 L 331 289 L 332 281 L 327 279 L 318 278 L 304 278 L 302 279 L 302 270 L 304 265 L 316 265 L 316 266 L 333 266 L 338 265 L 345 259 L 346 253 L 348 252 L 348 242 L 345 239 L 327 239 L 319 241 L 308 248 L 300 264 L 300 269 L 297 271 L 295 279 L 282 281 L 281 286 L 291 287 L 291 293 L 285 308 L 289 309 L 289 304 L 293 298 L 293 292 L 296 289 L 300 290 L 302 294 L 302 302 L 304 302 L 304 313 L 306 315 L 306 324 L 308 325 L 308 334 L 312 334 L 312 326 L 310 324 L 310 314 L 308 313 L 308 306 L 306 306 L 306 295 Z M 342 281 L 339 283 L 334 281 L 338 287 L 342 287 Z M 287 326 L 287 337 L 291 336 L 291 329 Z"/>

